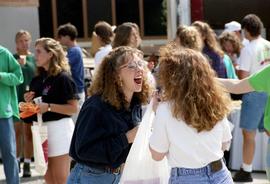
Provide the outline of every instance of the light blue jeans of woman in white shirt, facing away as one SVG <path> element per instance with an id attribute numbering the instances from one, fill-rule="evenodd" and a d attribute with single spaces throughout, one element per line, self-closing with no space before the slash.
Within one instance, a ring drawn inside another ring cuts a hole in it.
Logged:
<path id="1" fill-rule="evenodd" d="M 212 172 L 210 165 L 198 169 L 172 168 L 169 184 L 233 184 L 231 173 L 224 163 Z"/>

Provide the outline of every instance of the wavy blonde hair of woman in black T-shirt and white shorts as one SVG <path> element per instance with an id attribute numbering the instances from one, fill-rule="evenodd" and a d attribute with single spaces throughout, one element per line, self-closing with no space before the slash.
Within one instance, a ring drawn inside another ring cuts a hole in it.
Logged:
<path id="1" fill-rule="evenodd" d="M 40 38 L 36 40 L 35 46 L 40 45 L 46 52 L 52 53 L 52 58 L 49 64 L 48 76 L 56 76 L 62 71 L 70 73 L 68 60 L 61 44 L 52 38 Z M 38 75 L 44 71 L 43 68 L 38 67 Z"/>

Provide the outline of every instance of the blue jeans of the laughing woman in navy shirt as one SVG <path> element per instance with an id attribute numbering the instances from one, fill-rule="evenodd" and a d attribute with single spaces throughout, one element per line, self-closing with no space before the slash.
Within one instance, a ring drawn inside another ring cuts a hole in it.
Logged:
<path id="1" fill-rule="evenodd" d="M 68 177 L 67 184 L 118 184 L 119 180 L 120 174 L 77 163 Z"/>

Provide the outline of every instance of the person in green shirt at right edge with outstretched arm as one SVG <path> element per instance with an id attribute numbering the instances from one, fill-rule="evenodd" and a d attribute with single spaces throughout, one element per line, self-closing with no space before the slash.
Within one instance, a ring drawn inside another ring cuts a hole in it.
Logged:
<path id="1" fill-rule="evenodd" d="M 270 59 L 265 62 L 269 62 Z M 270 136 L 270 65 L 266 68 L 252 74 L 242 80 L 236 79 L 218 79 L 230 93 L 242 94 L 251 91 L 266 92 L 268 95 L 265 111 L 264 111 L 264 129 Z M 268 140 L 266 154 L 266 174 L 270 181 L 270 139 Z"/>

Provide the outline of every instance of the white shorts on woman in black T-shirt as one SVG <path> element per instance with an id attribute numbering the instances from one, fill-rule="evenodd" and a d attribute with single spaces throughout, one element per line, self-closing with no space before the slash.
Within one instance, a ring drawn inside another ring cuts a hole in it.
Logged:
<path id="1" fill-rule="evenodd" d="M 74 123 L 71 118 L 44 122 L 48 127 L 48 156 L 56 157 L 69 153 Z"/>

